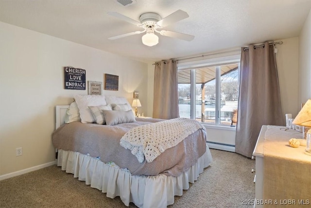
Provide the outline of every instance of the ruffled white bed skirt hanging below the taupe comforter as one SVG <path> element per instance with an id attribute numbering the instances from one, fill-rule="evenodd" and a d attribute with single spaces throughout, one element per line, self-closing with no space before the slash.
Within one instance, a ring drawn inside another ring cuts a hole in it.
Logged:
<path id="1" fill-rule="evenodd" d="M 189 183 L 194 183 L 211 162 L 207 148 L 198 162 L 178 177 L 137 176 L 79 152 L 58 150 L 57 166 L 85 181 L 86 185 L 102 190 L 107 197 L 120 196 L 126 206 L 133 202 L 139 208 L 164 208 L 172 205 L 174 196 L 181 196 L 183 189 L 189 189 Z"/>

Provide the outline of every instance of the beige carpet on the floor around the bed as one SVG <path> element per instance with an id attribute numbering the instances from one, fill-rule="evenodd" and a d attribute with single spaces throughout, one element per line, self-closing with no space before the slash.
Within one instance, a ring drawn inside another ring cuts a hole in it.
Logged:
<path id="1" fill-rule="evenodd" d="M 255 198 L 255 161 L 237 153 L 212 150 L 213 163 L 198 180 L 176 196 L 169 208 L 251 208 L 242 200 Z M 51 166 L 0 181 L 1 208 L 124 208 L 72 174 Z M 131 203 L 130 208 L 136 206 Z"/>

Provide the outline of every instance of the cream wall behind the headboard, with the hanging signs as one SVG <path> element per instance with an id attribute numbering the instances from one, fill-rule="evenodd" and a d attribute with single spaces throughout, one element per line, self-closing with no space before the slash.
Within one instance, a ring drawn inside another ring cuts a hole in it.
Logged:
<path id="1" fill-rule="evenodd" d="M 119 76 L 119 91 L 104 95 L 133 100 L 147 112 L 148 65 L 67 40 L 0 22 L 0 176 L 51 163 L 55 105 L 66 105 L 87 88 L 64 90 L 63 67 L 86 70 L 86 82 Z M 86 83 L 87 84 L 87 83 Z M 22 155 L 16 156 L 16 148 Z"/>

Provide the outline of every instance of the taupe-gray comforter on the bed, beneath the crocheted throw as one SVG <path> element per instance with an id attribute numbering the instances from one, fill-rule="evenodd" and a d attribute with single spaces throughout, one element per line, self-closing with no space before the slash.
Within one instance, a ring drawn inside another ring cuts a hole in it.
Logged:
<path id="1" fill-rule="evenodd" d="M 83 124 L 75 121 L 59 127 L 52 135 L 55 148 L 78 151 L 92 157 L 100 157 L 104 163 L 114 162 L 120 168 L 127 168 L 132 175 L 179 176 L 197 162 L 206 151 L 206 132 L 202 129 L 190 134 L 173 148 L 162 152 L 151 163 L 139 163 L 137 158 L 121 147 L 120 139 L 130 129 L 162 121 L 161 119 L 137 118 L 137 122 L 115 126 Z"/>

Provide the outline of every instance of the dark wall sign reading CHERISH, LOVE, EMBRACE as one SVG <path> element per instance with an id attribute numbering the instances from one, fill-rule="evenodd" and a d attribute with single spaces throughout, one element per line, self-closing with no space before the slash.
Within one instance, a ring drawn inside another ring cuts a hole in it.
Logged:
<path id="1" fill-rule="evenodd" d="M 64 67 L 64 88 L 66 90 L 86 90 L 86 70 Z"/>

